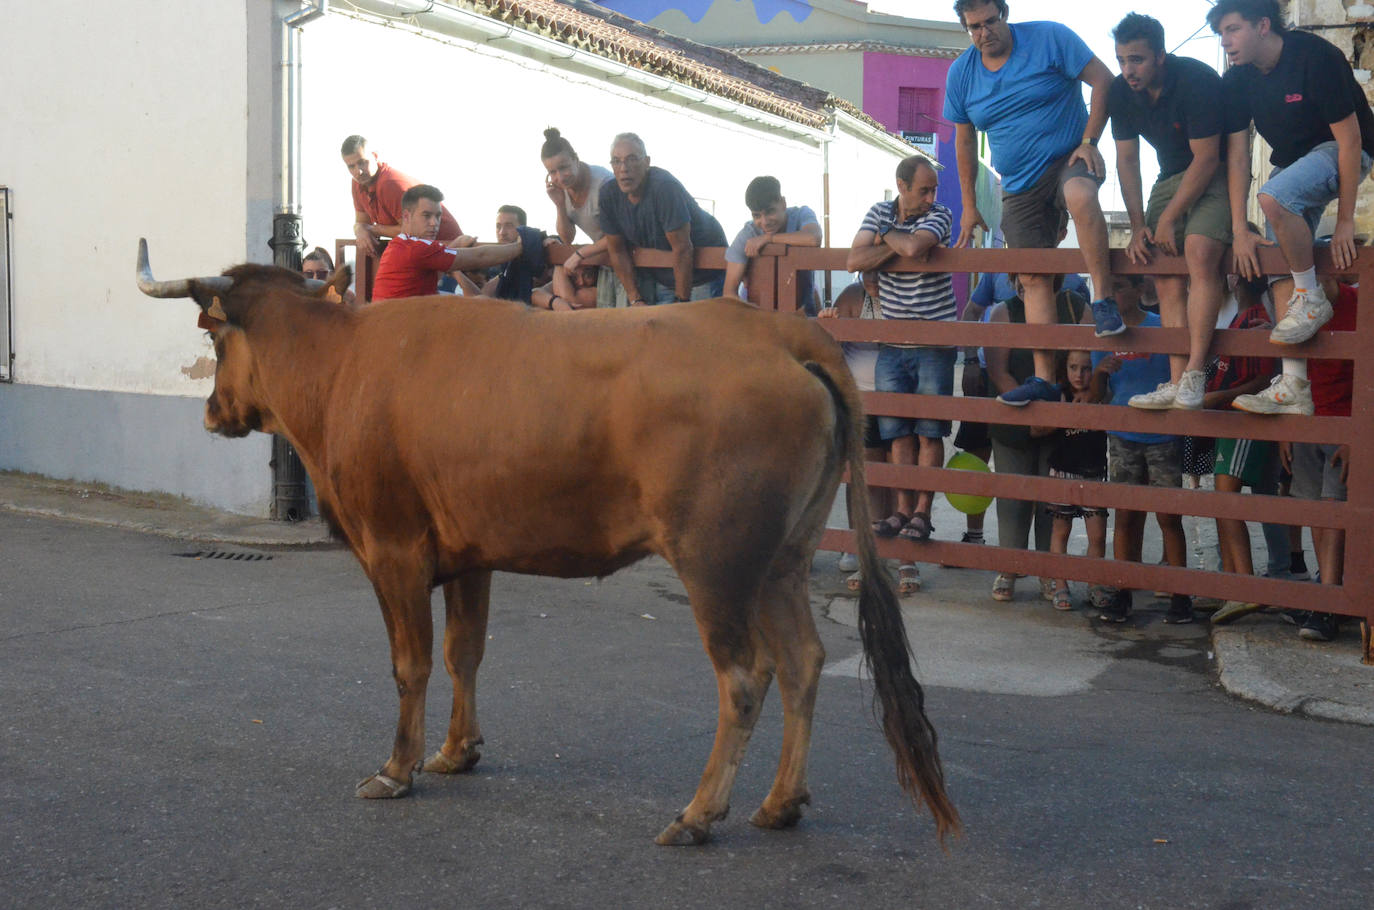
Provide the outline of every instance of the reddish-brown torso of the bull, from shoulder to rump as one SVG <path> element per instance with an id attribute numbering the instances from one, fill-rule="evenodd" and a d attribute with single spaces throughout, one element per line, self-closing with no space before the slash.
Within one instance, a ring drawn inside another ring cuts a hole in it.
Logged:
<path id="1" fill-rule="evenodd" d="M 848 381 L 820 329 L 738 301 L 389 301 L 344 353 L 326 470 L 344 511 L 427 524 L 448 570 L 600 575 L 815 482 L 834 407 L 805 362 Z"/>

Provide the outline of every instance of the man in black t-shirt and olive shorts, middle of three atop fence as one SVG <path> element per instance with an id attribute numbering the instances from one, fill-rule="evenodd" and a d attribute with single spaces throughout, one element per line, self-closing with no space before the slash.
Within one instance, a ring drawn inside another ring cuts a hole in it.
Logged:
<path id="1" fill-rule="evenodd" d="M 1189 276 L 1158 275 L 1160 319 L 1189 329 L 1189 353 L 1169 355 L 1169 382 L 1131 399 L 1147 410 L 1200 408 L 1208 346 L 1221 307 L 1221 253 L 1231 242 L 1231 209 L 1221 168 L 1221 77 L 1210 66 L 1164 52 L 1164 26 L 1132 12 L 1112 30 L 1121 76 L 1107 111 L 1117 144 L 1121 197 L 1131 217 L 1132 263 L 1150 247 L 1186 256 Z M 1140 187 L 1140 137 L 1160 159 L 1149 206 Z"/>

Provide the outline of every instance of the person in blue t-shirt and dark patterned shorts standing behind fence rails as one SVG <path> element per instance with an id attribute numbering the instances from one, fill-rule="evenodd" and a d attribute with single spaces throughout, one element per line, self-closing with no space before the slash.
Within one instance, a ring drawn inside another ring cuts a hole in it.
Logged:
<path id="1" fill-rule="evenodd" d="M 1160 326 L 1156 313 L 1140 309 L 1139 275 L 1118 275 L 1113 293 L 1121 308 L 1121 319 L 1127 326 Z M 1169 357 L 1162 353 L 1138 353 L 1118 351 L 1092 353 L 1092 397 L 1096 401 L 1125 406 L 1131 396 L 1151 392 L 1169 381 Z M 1165 433 L 1129 433 L 1107 430 L 1107 480 L 1113 484 L 1139 484 L 1150 487 L 1183 485 L 1183 440 Z M 1164 561 L 1169 565 L 1186 566 L 1189 558 L 1187 542 L 1183 536 L 1183 518 L 1154 513 L 1164 536 Z M 1112 535 L 1112 557 L 1114 559 L 1139 562 L 1145 542 L 1145 513 L 1131 509 L 1117 509 Z M 1107 586 L 1091 588 L 1092 606 L 1099 610 L 1098 619 L 1109 623 L 1124 623 L 1131 614 L 1131 591 Z M 1191 623 L 1193 598 L 1175 594 L 1169 598 L 1165 623 Z"/>

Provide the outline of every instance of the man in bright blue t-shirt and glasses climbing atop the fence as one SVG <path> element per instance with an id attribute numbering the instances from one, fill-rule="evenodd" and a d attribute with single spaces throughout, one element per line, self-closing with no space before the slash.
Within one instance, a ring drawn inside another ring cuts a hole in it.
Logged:
<path id="1" fill-rule="evenodd" d="M 1002 234 L 1009 247 L 1051 249 L 1073 217 L 1092 287 L 1112 287 L 1107 225 L 1098 203 L 1106 165 L 1096 143 L 1107 125 L 1112 73 L 1077 34 L 1058 22 L 1007 22 L 1006 0 L 956 0 L 973 47 L 949 67 L 944 117 L 955 124 L 963 216 L 956 246 L 969 246 L 978 213 L 978 131 L 988 135 L 992 166 L 1002 175 Z M 1092 87 L 1092 114 L 1083 84 Z M 1050 275 L 1022 275 L 1026 322 L 1055 322 Z M 1096 334 L 1125 330 L 1110 297 L 1092 301 Z M 1035 375 L 999 397 L 1004 404 L 1057 401 L 1055 356 L 1035 352 Z"/>

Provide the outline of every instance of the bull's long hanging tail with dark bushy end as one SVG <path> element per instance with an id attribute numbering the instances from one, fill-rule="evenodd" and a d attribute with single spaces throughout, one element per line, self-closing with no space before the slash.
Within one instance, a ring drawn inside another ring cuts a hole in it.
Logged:
<path id="1" fill-rule="evenodd" d="M 959 812 L 945 793 L 937 735 L 926 718 L 925 693 L 912 672 L 914 658 L 897 592 L 874 543 L 864 482 L 863 404 L 852 379 L 837 382 L 826 367 L 816 363 L 808 363 L 807 368 L 824 382 L 835 401 L 837 448 L 849 465 L 849 526 L 855 532 L 863 577 L 859 588 L 859 638 L 863 641 L 864 663 L 872 675 L 875 713 L 897 760 L 897 782 L 918 806 L 923 801 L 930 808 L 936 833 L 944 843 L 947 833 L 958 833 Z"/>

